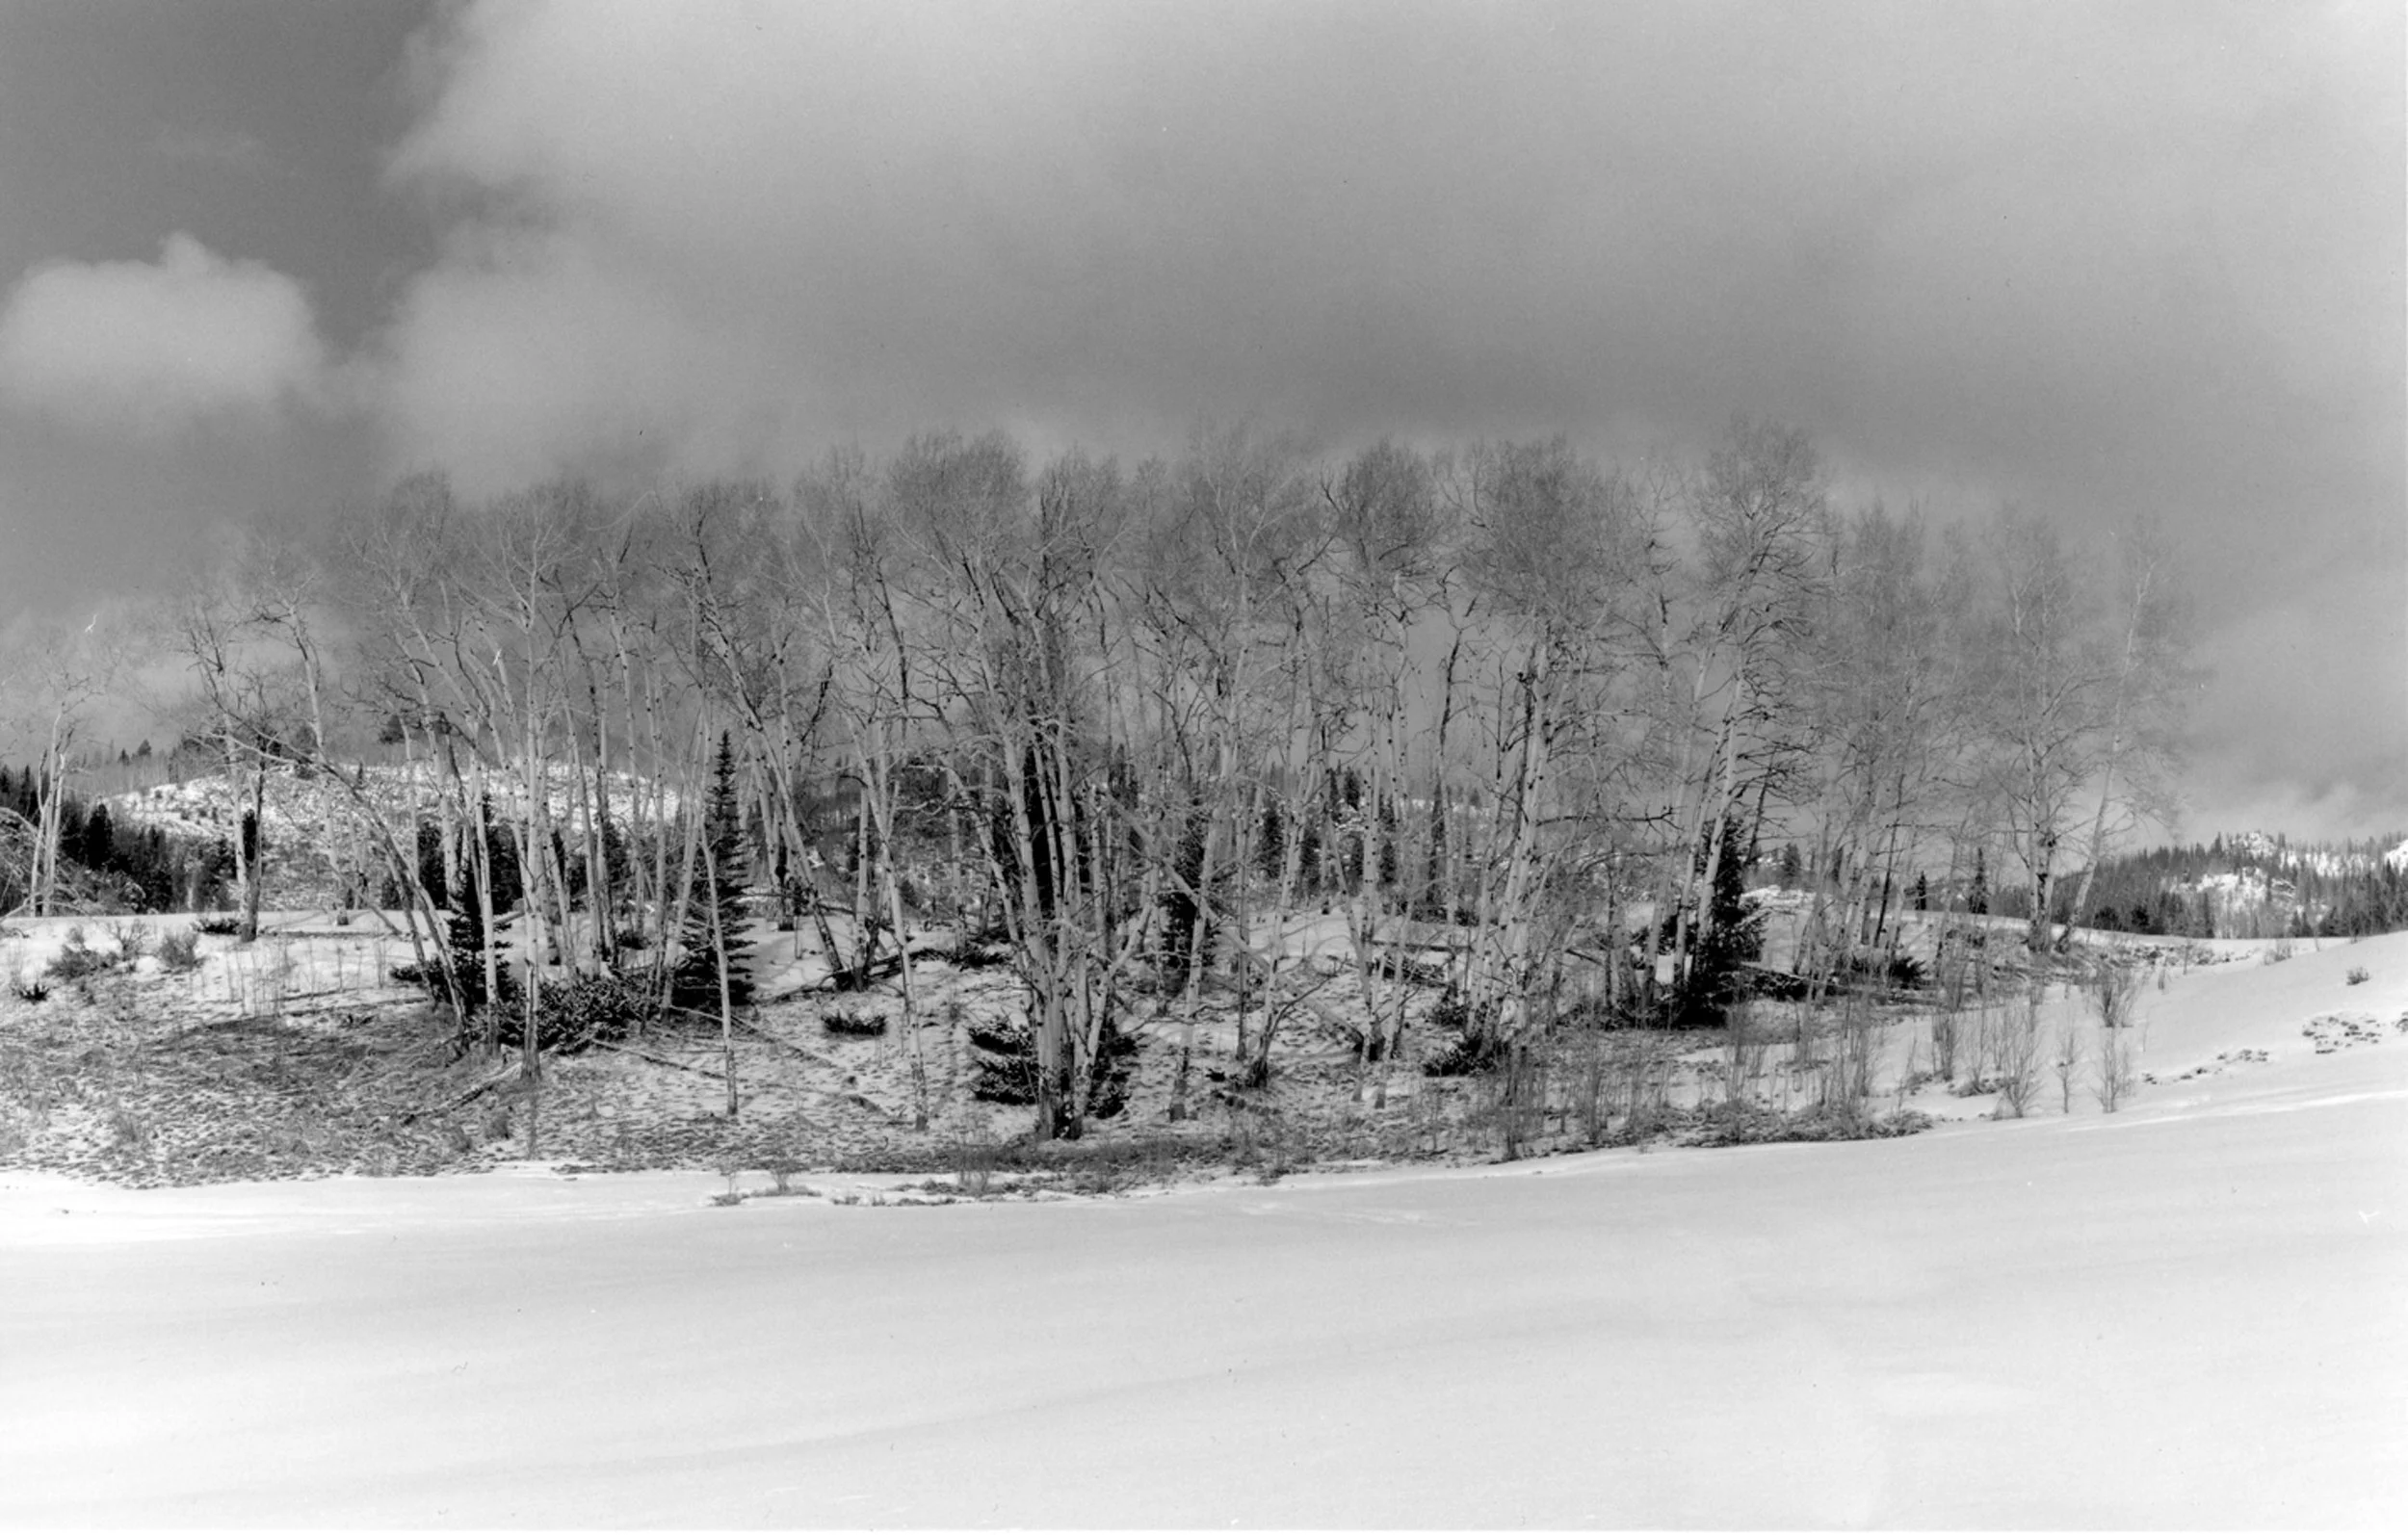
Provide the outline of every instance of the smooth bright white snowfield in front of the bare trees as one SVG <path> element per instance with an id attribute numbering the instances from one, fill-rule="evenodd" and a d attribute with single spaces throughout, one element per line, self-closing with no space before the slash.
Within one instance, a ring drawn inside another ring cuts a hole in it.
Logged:
<path id="1" fill-rule="evenodd" d="M 1098 1203 L 0 1177 L 0 1523 L 2408 1528 L 2408 936 L 2150 1001 L 2273 1061 Z"/>

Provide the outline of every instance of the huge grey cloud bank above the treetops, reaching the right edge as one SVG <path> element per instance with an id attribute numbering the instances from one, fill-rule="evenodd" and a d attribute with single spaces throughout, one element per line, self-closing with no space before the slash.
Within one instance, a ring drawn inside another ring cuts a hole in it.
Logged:
<path id="1" fill-rule="evenodd" d="M 417 445 L 506 438 L 515 474 L 657 390 L 636 414 L 710 452 L 1755 409 L 2068 503 L 2396 479 L 2367 433 L 2398 416 L 2374 12 L 710 17 L 462 19 L 400 164 L 510 217 L 395 332 Z M 501 399 L 433 399 L 501 349 L 532 445 Z"/>

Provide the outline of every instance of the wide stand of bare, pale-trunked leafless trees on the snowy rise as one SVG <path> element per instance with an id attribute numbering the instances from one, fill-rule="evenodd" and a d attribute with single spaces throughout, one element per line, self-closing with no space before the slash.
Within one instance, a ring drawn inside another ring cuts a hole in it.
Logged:
<path id="1" fill-rule="evenodd" d="M 1206 984 L 1267 1061 L 1327 979 L 1276 941 L 1300 919 L 1344 921 L 1380 1071 L 1406 950 L 1445 953 L 1466 1061 L 1717 1018 L 1753 958 L 1741 876 L 1775 864 L 1813 873 L 1813 984 L 1878 965 L 1910 888 L 1965 912 L 2018 871 L 2028 943 L 2059 943 L 2056 883 L 2081 909 L 2165 808 L 2191 681 L 2162 539 L 2117 551 L 2015 510 L 1842 508 L 1763 421 L 1642 464 L 1565 438 L 1327 460 L 1230 426 L 1122 464 L 932 433 L 785 486 L 467 503 L 417 476 L 260 529 L 157 650 L 260 835 L 267 780 L 306 782 L 306 835 L 354 900 L 414 914 L 486 1047 L 503 919 L 537 989 L 650 955 L 660 1006 L 732 1027 L 754 890 L 838 984 L 898 974 L 910 1039 L 905 934 L 1002 948 L 1052 1136 L 1096 1112 L 1134 1011 Z M 67 787 L 106 669 L 19 671 L 31 772 Z M 407 765 L 400 813 L 368 758 Z M 0 804 L 26 909 L 63 804 Z M 260 852 L 236 837 L 209 876 L 246 924 Z M 532 1042 L 539 998 L 515 1003 Z"/>

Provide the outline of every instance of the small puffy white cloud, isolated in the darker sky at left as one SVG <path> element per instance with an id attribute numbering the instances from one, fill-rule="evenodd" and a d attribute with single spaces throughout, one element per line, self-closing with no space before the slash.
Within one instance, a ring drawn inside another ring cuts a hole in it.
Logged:
<path id="1" fill-rule="evenodd" d="M 267 421 L 327 387 L 301 284 L 188 233 L 157 262 L 36 267 L 0 308 L 0 395 L 84 426 Z"/>

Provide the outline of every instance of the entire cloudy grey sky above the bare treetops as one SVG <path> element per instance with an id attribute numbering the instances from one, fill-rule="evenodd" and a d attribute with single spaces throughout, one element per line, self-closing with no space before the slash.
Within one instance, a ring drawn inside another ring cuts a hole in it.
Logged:
<path id="1" fill-rule="evenodd" d="M 0 618 L 193 529 L 1002 426 L 1813 433 L 2184 529 L 2186 832 L 2408 825 L 2367 5 L 0 0 Z"/>

